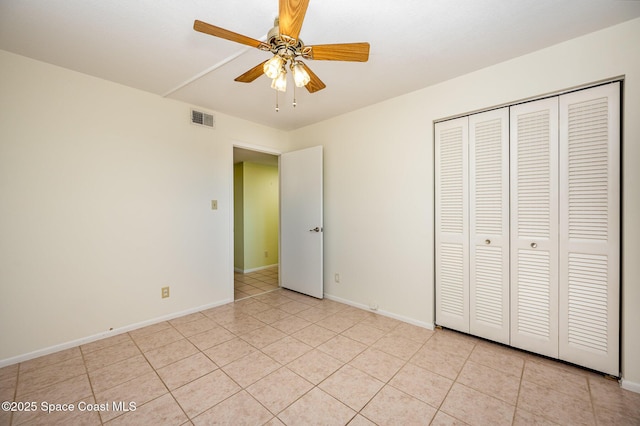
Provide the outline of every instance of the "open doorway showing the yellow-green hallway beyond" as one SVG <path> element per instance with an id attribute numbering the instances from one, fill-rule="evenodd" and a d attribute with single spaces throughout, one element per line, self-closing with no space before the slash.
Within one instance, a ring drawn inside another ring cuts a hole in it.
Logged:
<path id="1" fill-rule="evenodd" d="M 233 148 L 234 300 L 279 288 L 278 156 Z"/>

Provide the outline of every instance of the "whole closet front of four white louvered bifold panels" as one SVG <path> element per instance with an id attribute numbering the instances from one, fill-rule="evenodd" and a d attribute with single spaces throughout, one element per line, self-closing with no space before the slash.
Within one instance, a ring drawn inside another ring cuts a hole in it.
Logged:
<path id="1" fill-rule="evenodd" d="M 618 376 L 619 149 L 619 82 L 436 123 L 436 324 Z"/>

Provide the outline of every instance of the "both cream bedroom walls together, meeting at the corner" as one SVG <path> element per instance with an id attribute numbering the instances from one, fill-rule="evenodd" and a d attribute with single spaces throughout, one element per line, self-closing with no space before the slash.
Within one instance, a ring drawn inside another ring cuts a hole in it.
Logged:
<path id="1" fill-rule="evenodd" d="M 232 300 L 237 141 L 324 145 L 326 293 L 432 325 L 433 121 L 624 75 L 622 372 L 640 391 L 638 39 L 636 19 L 289 133 L 199 128 L 188 105 L 0 52 L 0 365 Z"/>

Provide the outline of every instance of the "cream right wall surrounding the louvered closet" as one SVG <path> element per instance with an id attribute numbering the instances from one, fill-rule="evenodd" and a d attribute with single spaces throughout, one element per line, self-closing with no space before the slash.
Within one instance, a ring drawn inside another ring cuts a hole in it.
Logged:
<path id="1" fill-rule="evenodd" d="M 637 40 L 638 19 L 291 132 L 324 145 L 325 292 L 432 325 L 434 120 L 624 75 L 622 372 L 640 392 Z"/>

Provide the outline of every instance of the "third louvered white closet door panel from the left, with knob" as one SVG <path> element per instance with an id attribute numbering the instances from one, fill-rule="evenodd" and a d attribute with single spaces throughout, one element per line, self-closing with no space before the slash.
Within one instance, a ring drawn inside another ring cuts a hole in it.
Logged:
<path id="1" fill-rule="evenodd" d="M 558 356 L 558 98 L 511 107 L 511 345 Z"/>

